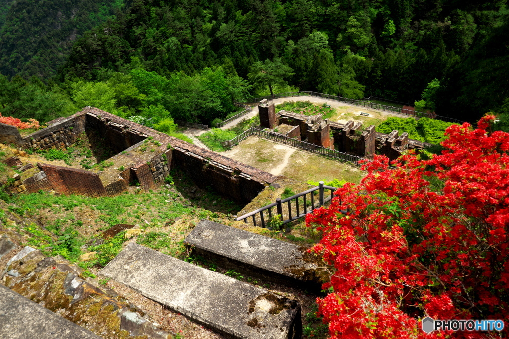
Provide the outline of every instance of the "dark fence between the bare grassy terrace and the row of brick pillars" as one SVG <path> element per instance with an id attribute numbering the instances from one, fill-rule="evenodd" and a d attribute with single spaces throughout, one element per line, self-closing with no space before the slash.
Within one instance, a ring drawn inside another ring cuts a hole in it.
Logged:
<path id="1" fill-rule="evenodd" d="M 294 146 L 294 147 L 297 147 L 300 149 L 304 149 L 304 150 L 307 150 L 307 151 L 310 151 L 313 153 L 317 153 L 321 156 L 326 156 L 326 157 L 346 161 L 349 163 L 353 163 L 357 166 L 360 165 L 359 161 L 364 160 L 363 158 L 355 157 L 355 156 L 352 156 L 347 153 L 343 153 L 343 152 L 340 152 L 340 151 L 337 151 L 334 149 L 317 146 L 317 145 L 310 144 L 310 143 L 307 143 L 304 141 L 299 141 L 296 139 L 289 138 L 282 134 L 278 134 L 275 132 L 269 132 L 269 131 L 263 131 L 263 130 L 260 130 L 260 129 L 254 128 L 254 127 L 251 127 L 248 130 L 242 132 L 241 134 L 239 134 L 232 140 L 227 140 L 227 141 L 221 142 L 221 146 L 224 149 L 230 149 L 230 148 L 232 148 L 232 146 L 238 144 L 239 142 L 241 142 L 245 138 L 249 137 L 250 135 L 256 135 L 256 136 L 259 136 L 259 137 L 262 137 L 265 139 L 269 139 L 272 141 L 288 144 L 288 145 L 291 145 L 291 146 Z"/>

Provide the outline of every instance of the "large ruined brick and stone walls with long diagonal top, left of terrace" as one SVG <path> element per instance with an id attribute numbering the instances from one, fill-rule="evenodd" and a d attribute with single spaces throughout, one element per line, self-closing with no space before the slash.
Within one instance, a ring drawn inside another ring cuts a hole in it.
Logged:
<path id="1" fill-rule="evenodd" d="M 14 131 L 6 126 L 0 124 L 0 132 L 9 132 L 0 134 L 0 138 L 34 150 L 65 149 L 76 141 L 78 134 L 94 131 L 117 152 L 107 161 L 124 168 L 121 172 L 109 167 L 94 173 L 42 163 L 21 167 L 16 159 L 10 159 L 10 164 L 22 171 L 11 189 L 15 193 L 52 189 L 64 194 L 116 195 L 125 192 L 135 181 L 143 189 L 150 190 L 162 184 L 170 170 L 181 167 L 199 187 L 212 186 L 224 195 L 247 203 L 277 179 L 270 173 L 93 107 L 49 121 L 47 128 L 24 138 L 16 128 Z M 140 149 L 148 140 L 157 145 L 155 151 Z"/>

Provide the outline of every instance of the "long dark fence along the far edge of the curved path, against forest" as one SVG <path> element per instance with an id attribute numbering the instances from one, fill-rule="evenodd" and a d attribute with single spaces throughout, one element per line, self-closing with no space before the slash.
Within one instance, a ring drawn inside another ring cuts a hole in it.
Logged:
<path id="1" fill-rule="evenodd" d="M 439 120 L 443 120 L 443 121 L 447 121 L 447 122 L 456 122 L 457 124 L 463 124 L 463 122 L 464 122 L 459 119 L 451 118 L 448 116 L 442 116 L 442 115 L 437 115 L 437 114 L 427 113 L 427 112 L 418 112 L 418 111 L 414 111 L 414 110 L 410 110 L 410 109 L 404 109 L 401 107 L 394 107 L 394 106 L 372 103 L 372 102 L 367 101 L 367 99 L 364 99 L 364 100 L 348 99 L 348 98 L 337 97 L 337 96 L 332 96 L 330 94 L 323 94 L 323 93 L 318 93 L 318 92 L 313 92 L 313 91 L 279 93 L 279 94 L 275 94 L 274 96 L 245 99 L 244 103 L 257 103 L 257 102 L 262 101 L 263 99 L 271 100 L 271 99 L 279 99 L 279 98 L 294 98 L 294 97 L 301 97 L 301 96 L 324 98 L 324 99 L 328 99 L 328 100 L 344 102 L 346 104 L 354 105 L 354 106 L 373 108 L 373 109 L 377 109 L 380 111 L 403 114 L 403 115 L 407 115 L 407 116 L 428 117 L 428 118 L 439 119 Z"/>

